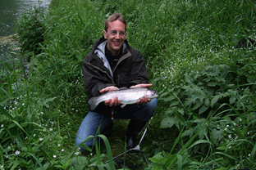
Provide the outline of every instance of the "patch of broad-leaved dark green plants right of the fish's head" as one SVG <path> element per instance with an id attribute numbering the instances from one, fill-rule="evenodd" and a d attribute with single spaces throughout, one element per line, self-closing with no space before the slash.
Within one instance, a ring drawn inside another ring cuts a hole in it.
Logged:
<path id="1" fill-rule="evenodd" d="M 182 136 L 191 137 L 201 130 L 199 139 L 218 144 L 224 135 L 221 128 L 237 117 L 244 119 L 245 113 L 254 113 L 255 73 L 255 64 L 251 62 L 240 67 L 209 65 L 194 76 L 185 75 L 181 85 L 161 95 L 169 103 L 161 127 L 175 125 L 181 130 L 185 125 Z M 219 122 L 220 119 L 228 121 Z"/>

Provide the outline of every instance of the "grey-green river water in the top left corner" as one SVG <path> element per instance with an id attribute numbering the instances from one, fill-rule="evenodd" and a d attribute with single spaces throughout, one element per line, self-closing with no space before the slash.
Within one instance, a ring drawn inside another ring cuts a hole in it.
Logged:
<path id="1" fill-rule="evenodd" d="M 15 23 L 31 7 L 47 8 L 51 0 L 0 0 L 0 37 L 15 34 Z"/>

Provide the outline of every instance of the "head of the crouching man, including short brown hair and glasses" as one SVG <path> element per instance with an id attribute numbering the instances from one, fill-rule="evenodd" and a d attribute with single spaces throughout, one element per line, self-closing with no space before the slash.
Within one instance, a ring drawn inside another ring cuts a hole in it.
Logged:
<path id="1" fill-rule="evenodd" d="M 126 19 L 121 13 L 109 16 L 105 22 L 104 38 L 107 39 L 107 49 L 117 56 L 126 40 Z"/>

